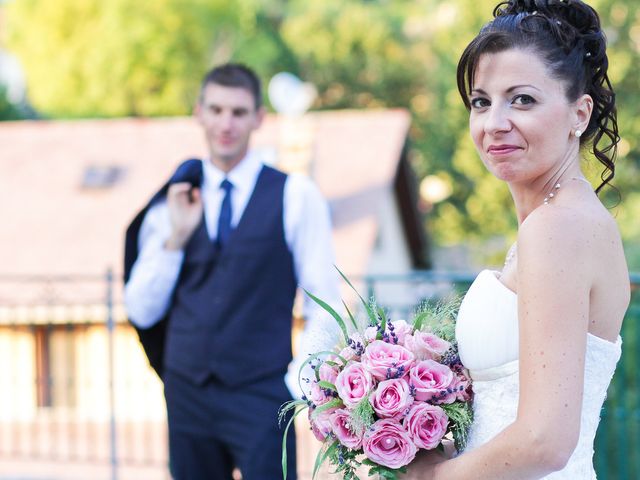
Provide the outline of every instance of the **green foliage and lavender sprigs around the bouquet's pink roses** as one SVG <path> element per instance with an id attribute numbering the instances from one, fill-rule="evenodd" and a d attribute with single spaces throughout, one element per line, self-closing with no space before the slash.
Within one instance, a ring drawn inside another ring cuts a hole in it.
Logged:
<path id="1" fill-rule="evenodd" d="M 358 296 L 365 313 L 365 320 L 364 322 L 357 321 L 344 302 L 343 305 L 347 312 L 347 318 L 343 319 L 343 317 L 326 302 L 314 296 L 310 292 L 306 292 L 311 299 L 313 299 L 335 319 L 340 328 L 342 338 L 338 342 L 334 351 L 326 350 L 310 355 L 298 372 L 298 382 L 301 384 L 303 380 L 302 374 L 305 367 L 308 365 L 312 365 L 314 367 L 315 379 L 313 383 L 317 384 L 317 387 L 324 393 L 325 397 L 323 397 L 323 403 L 316 404 L 313 403 L 311 399 L 303 397 L 302 400 L 287 402 L 280 409 L 279 419 L 281 423 L 289 417 L 284 430 L 282 442 L 282 471 L 283 478 L 285 480 L 287 478 L 286 438 L 288 430 L 294 422 L 294 419 L 300 413 L 309 409 L 311 412 L 309 420 L 313 426 L 314 420 L 318 419 L 321 414 L 326 415 L 326 412 L 332 409 L 347 408 L 343 399 L 338 395 L 338 387 L 336 384 L 321 378 L 319 365 L 324 364 L 330 368 L 342 371 L 347 365 L 353 362 L 353 360 L 349 360 L 349 358 L 353 358 L 352 356 L 348 354 L 345 354 L 345 356 L 341 355 L 341 352 L 344 352 L 345 349 L 346 352 L 350 352 L 347 347 L 354 350 L 359 349 L 359 353 L 357 353 L 356 356 L 360 357 L 360 355 L 365 351 L 365 347 L 370 345 L 371 342 L 384 340 L 387 343 L 393 344 L 395 340 L 395 344 L 398 344 L 397 337 L 394 337 L 394 323 L 388 318 L 385 309 L 377 305 L 374 298 L 366 301 L 358 293 L 357 289 L 349 279 L 340 270 L 338 270 L 338 272 Z M 450 344 L 450 347 L 446 352 L 442 353 L 440 363 L 449 366 L 449 368 L 454 372 L 460 372 L 462 369 L 455 341 L 455 318 L 458 308 L 458 299 L 447 299 L 440 301 L 435 305 L 429 302 L 423 302 L 416 309 L 412 322 L 408 322 L 407 325 L 404 325 L 405 328 L 410 327 L 410 332 L 412 332 L 411 335 L 414 335 L 417 332 L 429 333 L 439 337 L 439 339 L 445 342 L 445 345 L 447 343 Z M 398 325 L 398 323 L 395 323 L 395 325 Z M 366 337 L 365 330 L 369 327 L 375 327 L 375 334 L 373 334 L 371 330 L 368 330 L 369 336 Z M 375 338 L 372 337 L 372 335 L 374 335 Z M 360 339 L 362 344 L 358 344 L 356 346 L 354 338 Z M 366 338 L 368 338 L 369 341 L 367 341 Z M 395 370 L 395 373 L 391 375 L 392 371 L 393 370 L 389 371 L 387 379 L 400 378 L 402 370 Z M 414 387 L 411 388 L 413 389 Z M 462 391 L 463 387 L 458 388 Z M 348 408 L 348 430 L 359 438 L 363 438 L 365 432 L 375 429 L 374 424 L 377 419 L 376 411 L 372 405 L 372 400 L 370 400 L 374 390 L 375 385 L 374 388 L 364 395 L 357 404 L 354 405 L 352 403 Z M 415 393 L 411 393 L 411 395 L 415 396 Z M 423 400 L 420 401 L 423 402 Z M 437 407 L 440 407 L 444 411 L 447 417 L 447 432 L 449 432 L 449 435 L 453 437 L 456 449 L 459 451 L 462 450 L 466 444 L 467 432 L 473 420 L 471 402 L 454 400 L 453 403 L 445 404 L 439 403 L 437 399 L 434 400 L 433 398 L 432 400 L 429 400 L 429 402 L 433 402 L 434 405 L 437 405 Z M 415 400 L 415 403 L 417 404 L 418 400 Z M 451 439 L 451 437 L 447 438 Z M 340 477 L 345 480 L 359 480 L 357 471 L 363 466 L 368 468 L 369 476 L 377 475 L 378 478 L 384 480 L 398 480 L 399 475 L 406 472 L 406 465 L 394 465 L 397 468 L 392 468 L 389 465 L 377 463 L 365 455 L 362 446 L 359 448 L 349 448 L 342 444 L 335 434 L 326 434 L 322 442 L 322 447 L 318 452 L 313 467 L 312 478 L 316 477 L 321 466 L 326 461 L 329 461 L 329 463 L 334 467 L 333 473 L 339 474 Z M 441 449 L 442 445 L 440 444 L 436 448 Z"/>

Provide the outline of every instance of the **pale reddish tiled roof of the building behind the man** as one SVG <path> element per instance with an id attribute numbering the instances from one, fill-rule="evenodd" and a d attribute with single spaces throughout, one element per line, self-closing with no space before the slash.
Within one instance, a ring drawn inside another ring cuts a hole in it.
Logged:
<path id="1" fill-rule="evenodd" d="M 404 110 L 331 111 L 308 120 L 313 177 L 334 207 L 337 262 L 364 273 L 379 228 L 379 192 L 393 188 L 410 117 Z M 268 116 L 254 146 L 275 148 L 283 122 Z M 189 117 L 1 123 L 0 272 L 120 272 L 134 213 L 180 160 L 205 154 Z M 91 165 L 121 167 L 124 175 L 110 188 L 83 188 Z"/>

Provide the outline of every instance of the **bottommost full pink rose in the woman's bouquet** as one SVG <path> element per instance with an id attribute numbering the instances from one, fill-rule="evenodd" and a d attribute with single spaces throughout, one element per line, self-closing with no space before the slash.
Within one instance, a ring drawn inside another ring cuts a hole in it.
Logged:
<path id="1" fill-rule="evenodd" d="M 390 418 L 371 425 L 364 434 L 362 449 L 369 460 L 389 468 L 408 465 L 418 451 L 404 427 Z"/>

